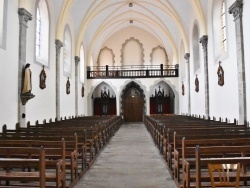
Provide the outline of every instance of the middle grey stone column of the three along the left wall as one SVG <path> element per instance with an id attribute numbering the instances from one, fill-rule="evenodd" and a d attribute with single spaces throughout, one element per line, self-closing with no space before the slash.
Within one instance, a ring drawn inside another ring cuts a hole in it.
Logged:
<path id="1" fill-rule="evenodd" d="M 56 39 L 56 118 L 60 121 L 60 51 L 63 43 Z"/>

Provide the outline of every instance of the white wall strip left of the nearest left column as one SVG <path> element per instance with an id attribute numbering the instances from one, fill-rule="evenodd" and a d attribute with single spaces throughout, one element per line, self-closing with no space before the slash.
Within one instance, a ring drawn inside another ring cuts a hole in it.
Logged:
<path id="1" fill-rule="evenodd" d="M 18 121 L 18 1 L 8 1 L 6 48 L 0 48 L 0 127 L 15 128 Z M 8 24 L 11 23 L 11 24 Z M 1 132 L 0 129 L 0 132 Z"/>

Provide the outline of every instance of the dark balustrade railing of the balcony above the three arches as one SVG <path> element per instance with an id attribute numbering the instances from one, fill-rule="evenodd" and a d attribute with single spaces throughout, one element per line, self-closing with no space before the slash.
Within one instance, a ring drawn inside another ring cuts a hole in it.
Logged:
<path id="1" fill-rule="evenodd" d="M 127 65 L 88 67 L 88 79 L 178 77 L 177 65 Z"/>

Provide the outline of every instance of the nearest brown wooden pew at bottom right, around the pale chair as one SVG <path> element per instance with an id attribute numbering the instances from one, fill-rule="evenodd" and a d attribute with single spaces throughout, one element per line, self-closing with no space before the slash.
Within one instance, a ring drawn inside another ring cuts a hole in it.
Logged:
<path id="1" fill-rule="evenodd" d="M 195 158 L 183 159 L 183 184 L 179 187 L 211 187 L 208 163 L 240 163 L 242 165 L 241 184 L 246 186 L 247 180 L 250 180 L 250 157 L 245 157 L 246 154 L 250 154 L 250 146 L 196 146 L 193 150 L 195 150 Z"/>

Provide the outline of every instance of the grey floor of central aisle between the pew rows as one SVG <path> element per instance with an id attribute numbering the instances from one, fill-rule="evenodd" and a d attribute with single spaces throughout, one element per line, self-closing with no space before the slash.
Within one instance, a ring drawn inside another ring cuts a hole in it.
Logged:
<path id="1" fill-rule="evenodd" d="M 146 127 L 123 124 L 75 188 L 176 188 Z"/>

